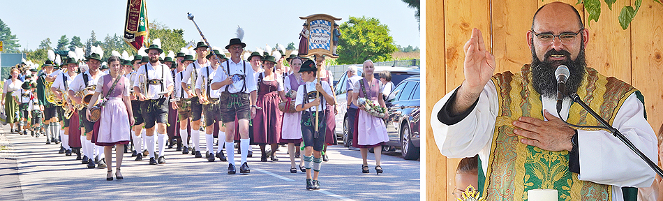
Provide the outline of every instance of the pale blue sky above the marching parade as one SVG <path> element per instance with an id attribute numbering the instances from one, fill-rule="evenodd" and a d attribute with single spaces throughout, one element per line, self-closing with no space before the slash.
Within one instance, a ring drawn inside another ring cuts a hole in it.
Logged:
<path id="1" fill-rule="evenodd" d="M 176 4 L 179 3 L 179 4 Z M 107 34 L 123 34 L 126 1 L 4 1 L 0 19 L 20 40 L 20 50 L 36 49 L 41 40 L 50 38 L 57 45 L 60 36 L 79 36 L 83 42 L 96 32 L 97 40 Z M 343 18 L 375 17 L 387 24 L 396 45 L 419 47 L 419 29 L 415 9 L 401 0 L 362 1 L 147 1 L 150 21 L 156 20 L 171 29 L 184 29 L 184 40 L 201 40 L 186 13 L 195 15 L 205 38 L 212 46 L 224 47 L 234 38 L 237 26 L 245 31 L 247 49 L 274 47 L 276 43 L 294 42 L 305 17 L 325 13 Z"/>

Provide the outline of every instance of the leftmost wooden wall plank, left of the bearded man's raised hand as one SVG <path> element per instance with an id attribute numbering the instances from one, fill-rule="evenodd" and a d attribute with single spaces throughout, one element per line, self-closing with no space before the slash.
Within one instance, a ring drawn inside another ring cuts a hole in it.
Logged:
<path id="1" fill-rule="evenodd" d="M 431 117 L 435 100 L 444 96 L 445 89 L 445 10 L 443 0 L 426 1 L 426 119 Z M 440 154 L 433 140 L 431 124 L 426 126 L 426 198 L 445 200 L 447 159 Z M 423 154 L 423 153 L 422 153 Z"/>

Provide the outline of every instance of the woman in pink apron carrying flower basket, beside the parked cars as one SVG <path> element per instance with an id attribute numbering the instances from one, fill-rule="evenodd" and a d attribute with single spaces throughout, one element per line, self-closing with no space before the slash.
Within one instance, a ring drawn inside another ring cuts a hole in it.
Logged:
<path id="1" fill-rule="evenodd" d="M 352 144 L 356 144 L 354 146 L 359 148 L 362 152 L 362 159 L 364 160 L 364 163 L 362 164 L 362 172 L 364 173 L 368 173 L 368 162 L 366 161 L 366 157 L 368 157 L 368 148 L 374 148 L 375 172 L 380 174 L 382 173 L 382 167 L 380 167 L 382 144 L 389 142 L 387 127 L 385 126 L 384 120 L 368 114 L 368 112 L 364 110 L 364 104 L 357 103 L 357 99 L 366 98 L 366 101 L 373 101 L 373 103 L 376 103 L 375 105 L 378 105 L 379 103 L 380 106 L 385 107 L 385 99 L 382 98 L 380 80 L 375 79 L 373 75 L 374 71 L 375 66 L 373 66 L 373 61 L 364 61 L 364 79 L 355 83 L 352 103 L 355 103 L 355 105 L 359 107 L 359 112 L 357 112 L 355 137 L 352 139 Z"/>

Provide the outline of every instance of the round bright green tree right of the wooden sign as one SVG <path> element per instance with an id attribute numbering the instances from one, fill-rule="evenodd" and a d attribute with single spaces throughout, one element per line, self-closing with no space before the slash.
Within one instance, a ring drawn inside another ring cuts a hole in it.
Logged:
<path id="1" fill-rule="evenodd" d="M 360 64 L 366 59 L 387 61 L 398 50 L 389 27 L 373 17 L 352 17 L 340 26 L 343 36 L 338 40 L 338 64 Z"/>

